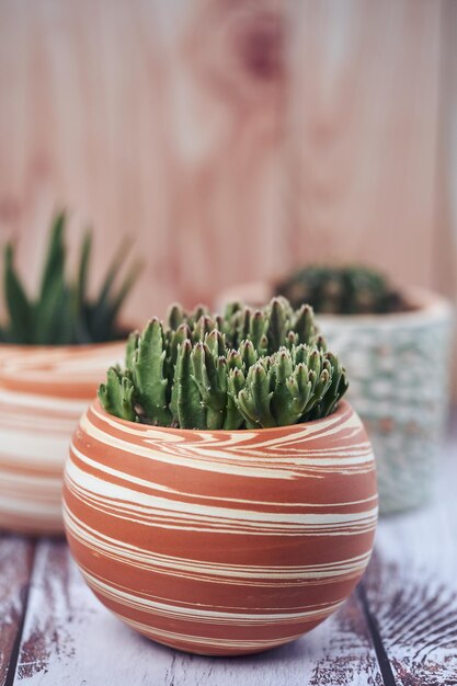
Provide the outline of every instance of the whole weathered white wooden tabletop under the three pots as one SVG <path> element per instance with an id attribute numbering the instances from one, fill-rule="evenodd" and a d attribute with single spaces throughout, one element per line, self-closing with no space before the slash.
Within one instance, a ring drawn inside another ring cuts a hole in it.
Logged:
<path id="1" fill-rule="evenodd" d="M 457 413 L 435 503 L 380 522 L 364 581 L 308 636 L 255 656 L 155 644 L 92 596 L 62 540 L 0 537 L 0 686 L 457 685 Z"/>

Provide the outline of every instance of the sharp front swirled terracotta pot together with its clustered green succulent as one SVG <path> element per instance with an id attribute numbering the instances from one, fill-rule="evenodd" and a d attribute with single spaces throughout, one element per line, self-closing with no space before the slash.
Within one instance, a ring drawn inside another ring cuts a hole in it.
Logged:
<path id="1" fill-rule="evenodd" d="M 147 637 L 208 655 L 312 629 L 370 556 L 374 458 L 312 310 L 173 307 L 130 335 L 82 416 L 64 521 L 89 586 Z"/>

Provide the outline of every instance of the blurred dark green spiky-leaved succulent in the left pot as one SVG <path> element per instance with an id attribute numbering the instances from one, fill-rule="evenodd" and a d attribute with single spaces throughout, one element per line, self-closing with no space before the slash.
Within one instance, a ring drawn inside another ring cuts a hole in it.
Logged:
<path id="1" fill-rule="evenodd" d="M 106 272 L 99 295 L 90 299 L 87 288 L 92 233 L 88 231 L 84 236 L 78 276 L 72 283 L 66 274 L 66 224 L 65 211 L 56 215 L 53 220 L 36 299 L 26 294 L 14 266 L 14 245 L 7 243 L 3 253 L 3 283 L 8 321 L 0 328 L 1 342 L 23 345 L 75 345 L 122 338 L 118 315 L 137 277 L 138 264 L 132 267 L 122 284 L 115 288 L 127 249 L 123 243 Z"/>

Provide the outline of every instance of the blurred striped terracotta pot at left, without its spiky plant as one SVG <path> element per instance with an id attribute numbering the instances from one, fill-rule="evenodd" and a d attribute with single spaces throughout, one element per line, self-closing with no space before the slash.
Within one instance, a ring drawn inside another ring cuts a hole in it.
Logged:
<path id="1" fill-rule="evenodd" d="M 0 345 L 0 528 L 62 533 L 68 443 L 124 347 Z"/>

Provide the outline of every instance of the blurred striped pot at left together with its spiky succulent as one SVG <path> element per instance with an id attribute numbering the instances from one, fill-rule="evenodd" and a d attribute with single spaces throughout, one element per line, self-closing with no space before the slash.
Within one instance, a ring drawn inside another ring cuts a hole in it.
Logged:
<path id="1" fill-rule="evenodd" d="M 7 321 L 0 329 L 0 527 L 27 534 L 62 531 L 61 473 L 69 437 L 106 365 L 122 358 L 118 313 L 134 279 L 115 284 L 125 245 L 96 298 L 88 296 L 91 232 L 78 278 L 68 281 L 66 215 L 50 227 L 39 293 L 32 299 L 4 248 Z"/>

